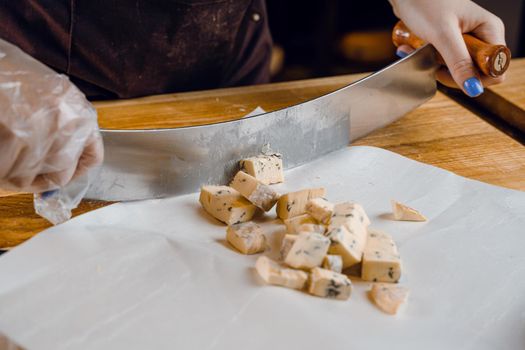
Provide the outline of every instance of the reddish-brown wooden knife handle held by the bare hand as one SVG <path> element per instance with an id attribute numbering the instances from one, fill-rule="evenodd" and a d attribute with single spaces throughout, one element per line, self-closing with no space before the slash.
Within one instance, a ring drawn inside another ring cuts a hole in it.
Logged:
<path id="1" fill-rule="evenodd" d="M 483 74 L 498 77 L 509 68 L 510 50 L 504 45 L 491 45 L 470 34 L 463 34 L 465 44 L 472 60 L 483 72 Z M 410 45 L 417 49 L 425 44 L 408 27 L 399 21 L 392 31 L 392 42 L 394 45 Z M 443 63 L 443 58 L 439 58 Z"/>

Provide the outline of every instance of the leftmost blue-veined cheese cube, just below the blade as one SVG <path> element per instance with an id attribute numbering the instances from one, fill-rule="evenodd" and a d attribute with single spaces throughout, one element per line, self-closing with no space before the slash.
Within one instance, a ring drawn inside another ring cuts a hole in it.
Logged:
<path id="1" fill-rule="evenodd" d="M 256 207 L 228 186 L 203 186 L 199 201 L 214 218 L 227 225 L 250 221 Z"/>

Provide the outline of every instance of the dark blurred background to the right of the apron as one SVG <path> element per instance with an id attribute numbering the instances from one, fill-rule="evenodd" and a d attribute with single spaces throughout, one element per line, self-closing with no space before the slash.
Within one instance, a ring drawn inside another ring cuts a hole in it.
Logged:
<path id="1" fill-rule="evenodd" d="M 525 56 L 525 0 L 475 1 L 505 22 L 513 57 Z M 374 71 L 396 59 L 397 18 L 387 0 L 267 0 L 273 80 Z"/>

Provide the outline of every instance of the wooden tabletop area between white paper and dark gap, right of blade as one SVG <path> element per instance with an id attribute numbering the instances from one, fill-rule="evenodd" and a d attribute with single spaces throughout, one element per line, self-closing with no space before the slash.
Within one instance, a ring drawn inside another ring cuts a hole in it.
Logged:
<path id="1" fill-rule="evenodd" d="M 525 147 L 441 93 L 354 145 L 385 148 L 464 177 L 525 191 Z"/>

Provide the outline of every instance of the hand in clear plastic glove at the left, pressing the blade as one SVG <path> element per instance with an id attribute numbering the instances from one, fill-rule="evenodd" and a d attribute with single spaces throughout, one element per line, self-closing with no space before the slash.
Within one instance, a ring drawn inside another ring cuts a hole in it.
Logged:
<path id="1" fill-rule="evenodd" d="M 0 110 L 0 188 L 59 188 L 102 162 L 97 113 L 82 92 L 3 40 Z"/>

